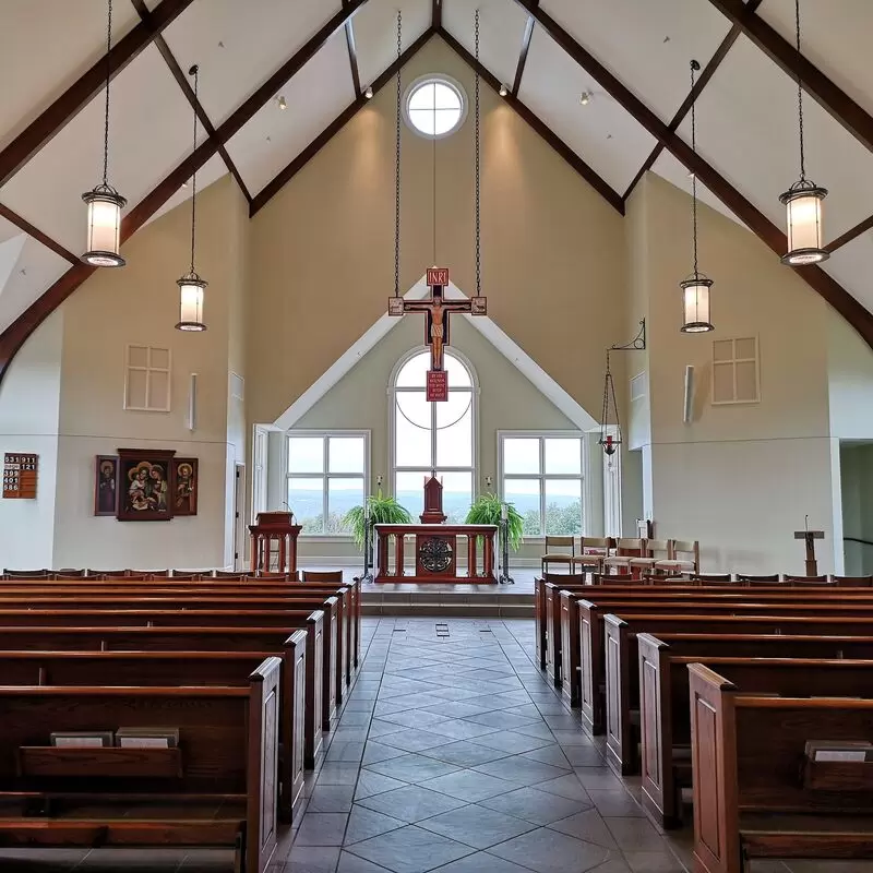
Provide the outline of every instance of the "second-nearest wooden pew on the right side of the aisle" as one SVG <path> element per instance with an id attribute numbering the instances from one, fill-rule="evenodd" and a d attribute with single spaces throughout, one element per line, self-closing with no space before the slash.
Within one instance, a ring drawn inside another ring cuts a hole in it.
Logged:
<path id="1" fill-rule="evenodd" d="M 873 692 L 873 637 L 720 637 L 708 654 L 708 639 L 695 646 L 670 644 L 639 634 L 639 729 L 642 801 L 662 827 L 680 824 L 680 791 L 691 786 L 690 663 L 705 663 L 744 692 L 786 696 L 853 696 Z M 842 659 L 848 654 L 852 660 Z M 868 658 L 868 660 L 854 660 Z"/>

